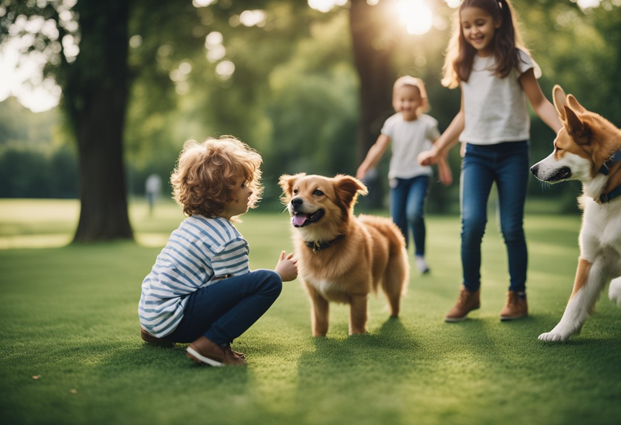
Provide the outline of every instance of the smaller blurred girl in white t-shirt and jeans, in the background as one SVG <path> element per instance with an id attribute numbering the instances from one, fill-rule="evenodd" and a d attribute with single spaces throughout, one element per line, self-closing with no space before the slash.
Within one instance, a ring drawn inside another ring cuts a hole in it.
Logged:
<path id="1" fill-rule="evenodd" d="M 440 136 L 438 122 L 423 112 L 429 109 L 425 85 L 420 78 L 402 76 L 392 89 L 392 106 L 397 112 L 384 122 L 381 134 L 365 160 L 356 171 L 362 180 L 374 168 L 392 140 L 392 157 L 388 171 L 391 186 L 392 221 L 399 226 L 408 244 L 411 227 L 414 234 L 414 262 L 420 273 L 429 272 L 425 261 L 425 220 L 423 207 L 427 196 L 429 166 L 420 166 L 417 156 L 430 149 Z M 452 181 L 451 171 L 444 157 L 438 158 L 440 180 L 445 185 Z"/>

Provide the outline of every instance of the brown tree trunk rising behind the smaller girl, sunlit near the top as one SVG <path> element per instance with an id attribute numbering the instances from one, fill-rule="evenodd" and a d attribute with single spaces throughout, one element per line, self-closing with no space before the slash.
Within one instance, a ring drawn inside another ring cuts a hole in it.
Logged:
<path id="1" fill-rule="evenodd" d="M 393 112 L 391 99 L 395 75 L 391 56 L 395 39 L 390 24 L 384 22 L 384 10 L 390 3 L 384 0 L 376 6 L 369 6 L 366 0 L 351 0 L 350 31 L 360 76 L 360 121 L 356 138 L 358 163 L 364 160 L 378 138 L 384 120 Z M 381 208 L 381 185 L 377 179 L 366 183 L 369 185 L 369 206 Z"/>

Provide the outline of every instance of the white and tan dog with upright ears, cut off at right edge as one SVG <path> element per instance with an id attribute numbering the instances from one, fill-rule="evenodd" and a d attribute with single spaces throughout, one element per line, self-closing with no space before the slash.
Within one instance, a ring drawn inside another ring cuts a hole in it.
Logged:
<path id="1" fill-rule="evenodd" d="M 542 181 L 582 181 L 578 272 L 563 318 L 540 340 L 564 341 L 581 331 L 610 282 L 609 296 L 621 305 L 621 130 L 587 111 L 556 85 L 554 105 L 564 127 L 554 152 L 530 171 Z"/>

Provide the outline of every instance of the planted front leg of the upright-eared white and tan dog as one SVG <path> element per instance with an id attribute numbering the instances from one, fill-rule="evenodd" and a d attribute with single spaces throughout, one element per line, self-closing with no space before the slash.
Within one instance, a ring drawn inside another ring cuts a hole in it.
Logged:
<path id="1" fill-rule="evenodd" d="M 569 297 L 563 318 L 550 332 L 541 334 L 539 339 L 563 342 L 573 334 L 579 333 L 584 321 L 593 312 L 603 282 L 604 276 L 597 261 L 591 263 L 585 258 L 579 258 L 574 290 Z"/>

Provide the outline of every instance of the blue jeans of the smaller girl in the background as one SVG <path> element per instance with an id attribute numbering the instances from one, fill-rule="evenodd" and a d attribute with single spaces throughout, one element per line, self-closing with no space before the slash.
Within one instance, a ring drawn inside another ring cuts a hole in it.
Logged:
<path id="1" fill-rule="evenodd" d="M 409 229 L 414 235 L 414 254 L 425 255 L 425 198 L 429 176 L 396 178 L 397 186 L 391 188 L 392 221 L 401 229 L 409 244 Z"/>

